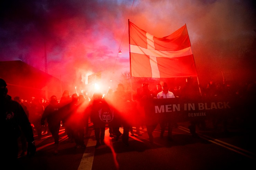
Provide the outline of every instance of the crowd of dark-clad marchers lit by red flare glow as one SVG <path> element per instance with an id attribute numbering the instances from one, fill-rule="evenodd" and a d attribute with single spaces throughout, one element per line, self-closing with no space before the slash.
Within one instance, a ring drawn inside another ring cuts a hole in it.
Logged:
<path id="1" fill-rule="evenodd" d="M 58 153 L 59 130 L 65 128 L 69 142 L 75 142 L 74 148 L 86 148 L 84 135 L 88 133 L 89 120 L 93 123 L 96 145 L 98 148 L 105 144 L 105 129 L 109 128 L 109 136 L 118 141 L 122 136 L 122 142 L 129 146 L 129 133 L 141 136 L 140 128 L 146 126 L 149 144 L 154 143 L 153 131 L 160 124 L 160 138 L 164 137 L 167 127 L 167 139 L 172 140 L 172 128 L 176 122 L 170 119 L 156 118 L 148 104 L 152 99 L 182 98 L 185 100 L 200 99 L 203 97 L 214 97 L 224 95 L 223 86 L 219 87 L 211 80 L 207 88 L 200 91 L 198 84 L 193 78 L 188 77 L 182 88 L 172 89 L 166 82 L 157 83 L 156 88 L 149 89 L 147 82 L 142 83 L 136 92 L 126 90 L 124 84 L 118 84 L 116 90 L 109 89 L 106 95 L 95 92 L 90 99 L 88 96 L 70 95 L 68 90 L 63 92 L 60 100 L 51 96 L 50 100 L 43 98 L 31 98 L 24 101 L 19 96 L 13 98 L 7 94 L 7 84 L 0 79 L 0 104 L 1 104 L 1 126 L 4 129 L 4 153 L 7 160 L 17 159 L 18 144 L 20 137 L 22 142 L 22 155 L 35 154 L 34 133 L 41 139 L 43 133 L 51 133 L 54 139 L 54 154 Z M 255 97 L 255 83 L 248 85 L 246 95 L 238 95 L 244 99 L 248 108 L 252 108 L 252 99 Z M 236 91 L 235 94 L 238 94 Z M 225 94 L 226 95 L 226 94 Z M 250 105 L 251 104 L 251 105 Z M 3 108 L 3 109 L 2 109 Z M 254 109 L 255 110 L 255 109 Z M 250 110 L 248 110 L 250 112 Z M 202 122 L 191 121 L 190 132 L 196 136 L 196 124 Z M 31 126 L 32 125 L 32 126 Z M 133 128 L 136 128 L 134 134 Z M 120 132 L 123 128 L 123 132 Z M 34 132 L 33 132 L 34 129 Z M 8 148 L 8 149 L 7 149 Z M 11 149 L 11 152 L 9 151 Z"/>

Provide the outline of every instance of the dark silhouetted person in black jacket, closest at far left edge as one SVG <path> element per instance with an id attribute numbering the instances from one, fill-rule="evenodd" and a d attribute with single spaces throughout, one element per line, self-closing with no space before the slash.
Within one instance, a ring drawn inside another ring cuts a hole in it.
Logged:
<path id="1" fill-rule="evenodd" d="M 1 164 L 12 169 L 17 167 L 18 163 L 18 138 L 21 131 L 28 142 L 28 156 L 35 155 L 36 146 L 33 129 L 24 109 L 20 103 L 13 101 L 7 93 L 7 83 L 0 79 Z"/>

